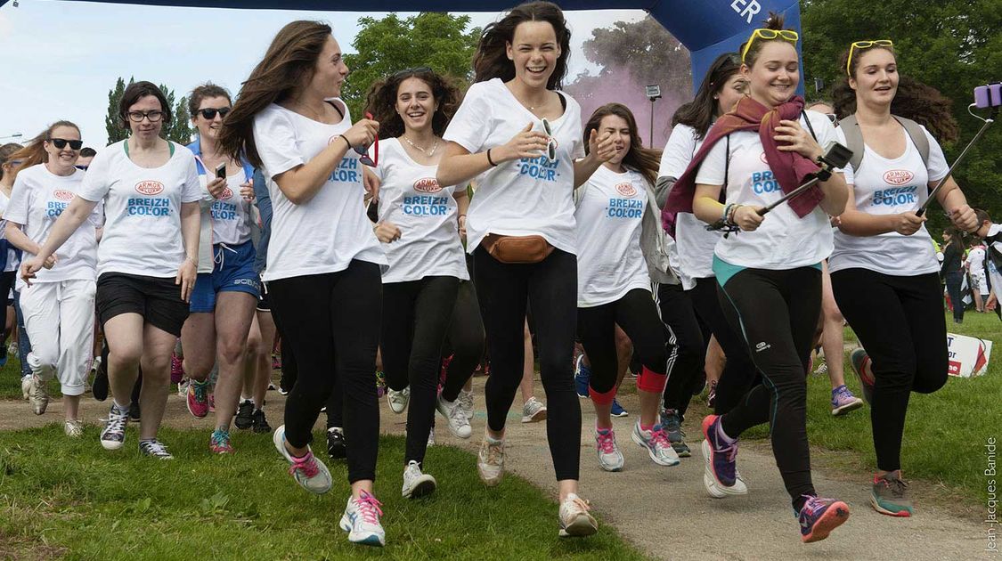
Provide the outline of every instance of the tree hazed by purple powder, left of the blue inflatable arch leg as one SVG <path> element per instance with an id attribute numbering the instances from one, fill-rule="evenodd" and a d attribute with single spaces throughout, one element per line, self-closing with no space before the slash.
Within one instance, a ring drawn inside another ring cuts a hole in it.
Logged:
<path id="1" fill-rule="evenodd" d="M 650 16 L 633 23 L 617 21 L 591 35 L 584 42 L 584 56 L 601 70 L 597 75 L 579 74 L 565 87 L 580 103 L 581 117 L 586 120 L 605 103 L 622 103 L 633 110 L 646 144 L 653 108 L 643 88 L 659 84 L 663 99 L 656 105 L 653 144 L 663 146 L 671 114 L 691 98 L 688 50 Z"/>

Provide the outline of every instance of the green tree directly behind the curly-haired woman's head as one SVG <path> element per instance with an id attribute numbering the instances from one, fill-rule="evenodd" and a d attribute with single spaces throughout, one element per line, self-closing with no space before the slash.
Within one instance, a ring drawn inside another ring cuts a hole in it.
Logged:
<path id="1" fill-rule="evenodd" d="M 467 31 L 469 23 L 469 16 L 438 12 L 405 19 L 397 14 L 360 18 L 361 29 L 352 43 L 358 54 L 345 55 L 352 73 L 342 86 L 353 117 L 362 116 L 374 82 L 405 68 L 429 66 L 465 88 L 473 78 L 470 61 L 480 40 L 480 28 Z"/>

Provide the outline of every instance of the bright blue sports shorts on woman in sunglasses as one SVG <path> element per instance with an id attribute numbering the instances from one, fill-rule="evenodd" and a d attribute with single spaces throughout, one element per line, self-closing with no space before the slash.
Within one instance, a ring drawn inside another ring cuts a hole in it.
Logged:
<path id="1" fill-rule="evenodd" d="M 254 243 L 239 245 L 212 245 L 215 264 L 212 272 L 201 272 L 191 292 L 191 313 L 215 311 L 217 293 L 246 293 L 258 299 L 261 280 L 254 270 Z"/>

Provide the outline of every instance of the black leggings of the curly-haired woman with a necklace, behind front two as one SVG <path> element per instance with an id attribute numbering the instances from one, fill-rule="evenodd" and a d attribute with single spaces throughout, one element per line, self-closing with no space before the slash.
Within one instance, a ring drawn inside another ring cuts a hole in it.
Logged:
<path id="1" fill-rule="evenodd" d="M 380 349 L 386 385 L 398 392 L 411 387 L 404 465 L 411 460 L 420 464 L 425 459 L 435 418 L 442 342 L 452 321 L 458 289 L 455 276 L 383 285 Z"/>

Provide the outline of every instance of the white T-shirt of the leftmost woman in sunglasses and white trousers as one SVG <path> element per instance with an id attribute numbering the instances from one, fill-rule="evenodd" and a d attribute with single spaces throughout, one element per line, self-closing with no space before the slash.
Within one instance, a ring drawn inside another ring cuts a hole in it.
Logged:
<path id="1" fill-rule="evenodd" d="M 14 181 L 10 204 L 4 213 L 8 221 L 21 224 L 25 235 L 41 245 L 49 236 L 52 224 L 69 206 L 80 189 L 84 172 L 75 169 L 71 175 L 56 175 L 45 164 L 21 170 Z M 57 262 L 52 268 L 42 268 L 33 283 L 61 280 L 93 280 L 97 270 L 97 232 L 103 220 L 102 205 L 94 206 L 84 224 L 76 229 L 56 251 Z M 89 225 L 89 227 L 88 227 Z M 33 253 L 25 253 L 34 256 Z M 17 290 L 26 287 L 20 275 Z"/>

